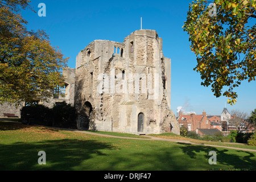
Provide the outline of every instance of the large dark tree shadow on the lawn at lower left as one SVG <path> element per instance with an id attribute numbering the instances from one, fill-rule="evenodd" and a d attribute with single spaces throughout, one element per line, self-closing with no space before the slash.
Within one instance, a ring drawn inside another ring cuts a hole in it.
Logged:
<path id="1" fill-rule="evenodd" d="M 112 144 L 97 140 L 46 140 L 44 142 L 0 144 L 0 170 L 72 170 L 72 167 L 102 154 L 102 149 L 112 150 Z M 46 152 L 47 165 L 39 165 L 39 151 Z M 90 166 L 86 168 L 90 170 Z"/>

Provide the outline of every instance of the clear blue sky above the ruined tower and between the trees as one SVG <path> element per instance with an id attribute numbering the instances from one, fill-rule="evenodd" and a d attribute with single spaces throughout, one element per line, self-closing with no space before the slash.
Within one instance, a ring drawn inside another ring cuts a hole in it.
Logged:
<path id="1" fill-rule="evenodd" d="M 171 109 L 184 106 L 185 111 L 220 115 L 227 98 L 216 98 L 210 88 L 201 86 L 199 73 L 193 71 L 196 56 L 189 49 L 188 35 L 181 28 L 192 1 L 82 1 L 34 0 L 31 6 L 37 12 L 39 3 L 46 4 L 46 17 L 30 10 L 22 11 L 28 21 L 28 30 L 45 30 L 52 46 L 58 46 L 68 66 L 76 67 L 76 56 L 96 39 L 123 42 L 131 32 L 141 29 L 156 30 L 163 38 L 163 53 L 172 60 Z M 256 22 L 254 21 L 254 24 Z M 238 102 L 226 105 L 228 110 L 239 109 L 248 114 L 256 109 L 256 82 L 242 82 L 236 89 Z"/>

